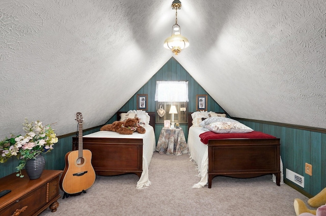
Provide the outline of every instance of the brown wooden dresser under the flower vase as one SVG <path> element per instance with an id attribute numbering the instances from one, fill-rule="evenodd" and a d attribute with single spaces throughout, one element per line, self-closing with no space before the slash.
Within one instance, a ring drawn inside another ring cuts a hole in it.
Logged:
<path id="1" fill-rule="evenodd" d="M 60 198 L 59 178 L 62 170 L 44 170 L 41 177 L 30 180 L 25 170 L 0 178 L 0 191 L 11 190 L 0 198 L 0 215 L 38 215 L 49 207 L 56 211 Z"/>

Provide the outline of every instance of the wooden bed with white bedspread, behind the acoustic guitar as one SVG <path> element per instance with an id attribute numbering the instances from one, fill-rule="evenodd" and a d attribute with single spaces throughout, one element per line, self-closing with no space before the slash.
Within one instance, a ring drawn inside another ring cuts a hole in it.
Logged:
<path id="1" fill-rule="evenodd" d="M 117 112 L 117 120 L 120 114 Z M 121 135 L 112 131 L 99 131 L 83 136 L 83 148 L 92 152 L 92 166 L 97 175 L 112 176 L 126 173 L 137 174 L 137 188 L 149 186 L 148 166 L 155 150 L 155 112 L 148 112 L 149 125 L 145 134 L 137 132 Z M 73 150 L 78 139 L 73 137 Z"/>

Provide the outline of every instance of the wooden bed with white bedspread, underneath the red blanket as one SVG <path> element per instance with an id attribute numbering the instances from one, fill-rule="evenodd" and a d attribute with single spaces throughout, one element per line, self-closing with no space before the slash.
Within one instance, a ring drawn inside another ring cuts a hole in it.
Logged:
<path id="1" fill-rule="evenodd" d="M 198 165 L 201 178 L 200 182 L 194 184 L 194 188 L 204 187 L 207 183 L 208 188 L 211 188 L 212 179 L 219 175 L 251 178 L 275 174 L 276 183 L 280 186 L 280 139 L 270 135 L 270 138 L 263 139 L 206 138 L 207 143 L 204 144 L 202 141 L 205 140 L 205 131 L 199 125 L 192 125 L 193 120 L 192 113 L 189 113 L 187 144 L 191 159 Z"/>

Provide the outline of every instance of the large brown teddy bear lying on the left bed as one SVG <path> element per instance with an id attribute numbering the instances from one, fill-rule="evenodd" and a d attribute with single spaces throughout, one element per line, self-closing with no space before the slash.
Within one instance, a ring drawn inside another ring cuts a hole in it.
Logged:
<path id="1" fill-rule="evenodd" d="M 114 121 L 112 124 L 104 125 L 100 131 L 115 131 L 119 134 L 132 134 L 138 132 L 145 134 L 146 129 L 139 125 L 139 117 L 127 118 L 124 121 Z"/>

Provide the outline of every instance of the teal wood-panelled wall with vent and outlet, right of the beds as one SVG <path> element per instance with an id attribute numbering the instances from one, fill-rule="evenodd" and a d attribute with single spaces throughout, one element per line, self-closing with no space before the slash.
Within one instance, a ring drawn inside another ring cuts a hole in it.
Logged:
<path id="1" fill-rule="evenodd" d="M 308 194 L 314 196 L 326 188 L 325 133 L 262 124 L 250 120 L 239 121 L 256 131 L 280 138 L 284 179 L 286 179 L 285 169 L 287 168 L 305 177 L 305 188 L 302 190 Z M 312 165 L 312 176 L 305 173 L 305 163 Z"/>

